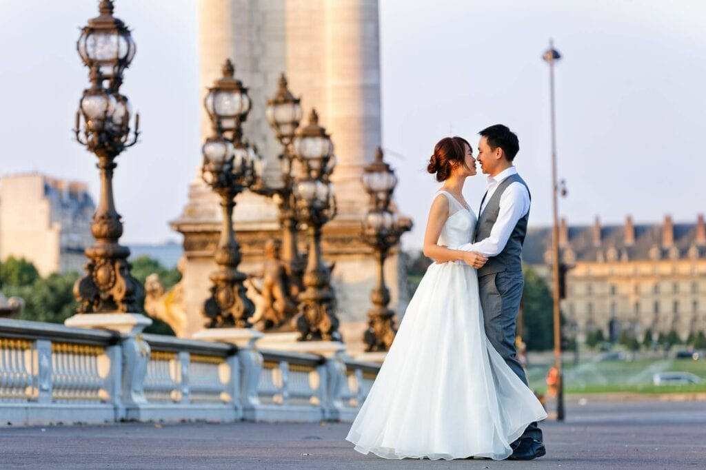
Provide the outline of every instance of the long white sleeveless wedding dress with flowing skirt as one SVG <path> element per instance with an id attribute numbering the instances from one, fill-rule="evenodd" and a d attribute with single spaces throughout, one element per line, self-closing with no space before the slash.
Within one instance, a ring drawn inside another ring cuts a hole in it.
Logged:
<path id="1" fill-rule="evenodd" d="M 455 198 L 438 243 L 468 243 L 477 222 Z M 476 270 L 431 264 L 347 435 L 385 459 L 505 459 L 528 424 L 546 418 L 485 335 Z"/>

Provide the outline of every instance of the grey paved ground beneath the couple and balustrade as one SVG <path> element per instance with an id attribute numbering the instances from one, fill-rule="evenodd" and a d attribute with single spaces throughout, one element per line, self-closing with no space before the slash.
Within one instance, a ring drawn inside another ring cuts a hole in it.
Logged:
<path id="1" fill-rule="evenodd" d="M 390 461 L 352 450 L 347 424 L 124 423 L 0 428 L 0 468 L 706 469 L 706 402 L 578 402 L 542 424 L 532 462 Z"/>

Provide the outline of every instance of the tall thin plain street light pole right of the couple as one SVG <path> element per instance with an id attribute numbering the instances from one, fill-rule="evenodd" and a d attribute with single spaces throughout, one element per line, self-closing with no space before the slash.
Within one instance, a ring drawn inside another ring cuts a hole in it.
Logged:
<path id="1" fill-rule="evenodd" d="M 554 62 L 561 59 L 561 54 L 554 49 L 554 42 L 549 40 L 549 49 L 542 56 L 549 64 L 549 100 L 551 107 L 551 205 L 553 212 L 553 225 L 551 230 L 552 271 L 554 272 L 554 368 L 556 368 L 556 419 L 564 419 L 564 385 L 561 371 L 561 310 L 559 308 L 559 220 L 557 210 L 557 197 L 559 191 L 556 179 L 556 118 L 554 113 Z"/>

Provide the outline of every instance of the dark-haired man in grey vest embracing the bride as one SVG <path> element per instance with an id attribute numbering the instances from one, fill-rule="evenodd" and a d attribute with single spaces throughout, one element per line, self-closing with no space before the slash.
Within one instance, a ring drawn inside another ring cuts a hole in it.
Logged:
<path id="1" fill-rule="evenodd" d="M 449 248 L 476 251 L 489 258 L 478 270 L 486 336 L 527 385 L 515 353 L 515 323 L 525 284 L 520 255 L 530 217 L 530 190 L 513 166 L 520 150 L 517 135 L 502 124 L 485 128 L 479 134 L 477 160 L 488 175 L 488 191 L 481 200 L 474 243 Z M 546 454 L 537 423 L 527 426 L 512 447 L 510 459 L 531 460 Z"/>

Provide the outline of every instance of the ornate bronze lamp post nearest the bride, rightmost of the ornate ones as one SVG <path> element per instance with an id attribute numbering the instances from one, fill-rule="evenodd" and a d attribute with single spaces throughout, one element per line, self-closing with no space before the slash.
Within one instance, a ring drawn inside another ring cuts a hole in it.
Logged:
<path id="1" fill-rule="evenodd" d="M 400 237 L 412 229 L 412 220 L 397 218 L 390 210 L 390 200 L 397 185 L 395 171 L 383 162 L 383 150 L 378 147 L 375 161 L 364 169 L 361 178 L 370 195 L 371 209 L 363 224 L 363 237 L 373 247 L 378 260 L 378 284 L 371 293 L 373 308 L 368 311 L 369 327 L 364 335 L 367 351 L 388 351 L 395 338 L 395 312 L 388 308 L 390 291 L 385 286 L 383 267 L 390 248 L 397 245 Z"/>

